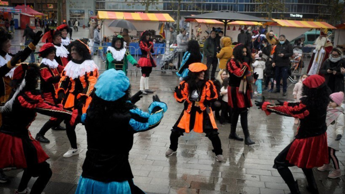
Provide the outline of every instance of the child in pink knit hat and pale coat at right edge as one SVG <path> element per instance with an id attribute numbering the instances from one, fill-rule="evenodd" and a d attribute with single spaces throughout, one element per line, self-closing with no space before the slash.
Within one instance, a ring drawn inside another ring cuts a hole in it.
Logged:
<path id="1" fill-rule="evenodd" d="M 344 108 L 342 107 L 344 93 L 333 93 L 329 98 L 331 98 L 331 102 L 327 108 L 326 116 L 328 162 L 331 162 L 332 159 L 334 171 L 328 174 L 328 178 L 338 178 L 342 176 L 342 173 L 335 151 L 339 151 L 339 140 L 344 134 Z M 331 164 L 324 164 L 317 169 L 319 171 L 328 171 L 331 169 Z"/>

